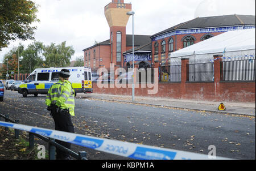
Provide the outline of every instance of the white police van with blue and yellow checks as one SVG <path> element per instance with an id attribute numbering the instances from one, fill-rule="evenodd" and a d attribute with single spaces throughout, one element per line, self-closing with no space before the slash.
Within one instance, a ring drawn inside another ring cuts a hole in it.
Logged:
<path id="1" fill-rule="evenodd" d="M 92 71 L 89 67 L 63 67 L 63 68 L 48 68 L 35 69 L 27 77 L 27 79 L 20 84 L 18 92 L 27 97 L 27 95 L 47 94 L 49 88 L 59 81 L 59 72 L 62 69 L 68 69 L 71 76 L 69 82 L 72 83 L 73 89 L 76 93 L 92 93 Z"/>

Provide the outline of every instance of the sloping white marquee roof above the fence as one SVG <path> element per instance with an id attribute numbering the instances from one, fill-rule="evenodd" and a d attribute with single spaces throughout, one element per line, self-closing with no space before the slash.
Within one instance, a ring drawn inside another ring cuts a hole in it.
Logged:
<path id="1" fill-rule="evenodd" d="M 214 54 L 222 54 L 224 57 L 254 54 L 255 57 L 255 28 L 225 32 L 177 50 L 171 53 L 171 63 L 177 62 L 175 58 L 213 59 Z"/>

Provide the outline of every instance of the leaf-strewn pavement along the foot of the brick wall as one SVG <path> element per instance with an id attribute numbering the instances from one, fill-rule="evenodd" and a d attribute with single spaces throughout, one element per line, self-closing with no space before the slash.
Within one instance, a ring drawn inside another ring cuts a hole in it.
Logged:
<path id="1" fill-rule="evenodd" d="M 222 101 L 196 101 L 196 100 L 181 100 L 181 99 L 168 99 L 160 97 L 139 97 L 135 96 L 134 101 L 131 96 L 120 95 L 105 95 L 105 94 L 82 94 L 77 95 L 77 98 L 108 100 L 117 102 L 127 102 L 132 104 L 153 105 L 163 108 L 180 108 L 190 110 L 202 110 L 205 112 L 215 112 L 224 114 L 236 114 L 243 116 L 255 117 L 255 102 L 223 102 L 225 110 L 218 110 L 218 106 Z"/>

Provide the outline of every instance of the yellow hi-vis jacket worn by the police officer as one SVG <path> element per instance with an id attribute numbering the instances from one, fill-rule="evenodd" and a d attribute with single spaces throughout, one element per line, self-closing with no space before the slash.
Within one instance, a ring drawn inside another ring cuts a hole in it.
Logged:
<path id="1" fill-rule="evenodd" d="M 60 109 L 69 109 L 71 116 L 75 116 L 75 91 L 71 82 L 59 80 L 52 85 L 46 97 L 46 105 L 50 106 L 51 104 L 56 104 Z"/>

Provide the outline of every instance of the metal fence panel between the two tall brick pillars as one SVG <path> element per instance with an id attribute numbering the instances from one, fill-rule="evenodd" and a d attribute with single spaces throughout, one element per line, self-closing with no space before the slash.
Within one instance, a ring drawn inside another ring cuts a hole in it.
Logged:
<path id="1" fill-rule="evenodd" d="M 214 63 L 188 63 L 187 82 L 214 82 Z"/>

